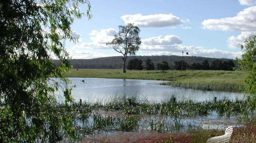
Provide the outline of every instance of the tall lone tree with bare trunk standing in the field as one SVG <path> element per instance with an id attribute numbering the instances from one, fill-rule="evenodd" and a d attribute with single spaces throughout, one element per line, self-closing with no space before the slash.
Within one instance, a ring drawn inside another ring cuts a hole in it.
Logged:
<path id="1" fill-rule="evenodd" d="M 140 28 L 127 24 L 126 26 L 118 26 L 119 32 L 114 35 L 114 39 L 108 42 L 107 45 L 113 48 L 116 52 L 123 54 L 123 72 L 127 56 L 133 56 L 140 49 Z"/>

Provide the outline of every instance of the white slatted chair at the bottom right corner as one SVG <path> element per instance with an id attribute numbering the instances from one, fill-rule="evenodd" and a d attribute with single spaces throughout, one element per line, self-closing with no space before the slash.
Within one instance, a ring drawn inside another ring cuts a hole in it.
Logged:
<path id="1" fill-rule="evenodd" d="M 226 129 L 225 135 L 207 139 L 206 143 L 228 143 L 232 133 L 233 133 L 233 127 L 230 126 Z"/>

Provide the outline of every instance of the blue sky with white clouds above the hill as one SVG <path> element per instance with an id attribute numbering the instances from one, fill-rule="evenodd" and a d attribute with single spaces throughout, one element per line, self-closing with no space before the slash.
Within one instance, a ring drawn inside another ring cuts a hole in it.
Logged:
<path id="1" fill-rule="evenodd" d="M 181 55 L 240 58 L 242 44 L 256 35 L 255 0 L 90 0 L 92 19 L 72 25 L 78 42 L 67 42 L 72 59 L 121 56 L 106 45 L 119 25 L 140 28 L 136 55 Z M 80 5 L 87 11 L 87 5 Z"/>

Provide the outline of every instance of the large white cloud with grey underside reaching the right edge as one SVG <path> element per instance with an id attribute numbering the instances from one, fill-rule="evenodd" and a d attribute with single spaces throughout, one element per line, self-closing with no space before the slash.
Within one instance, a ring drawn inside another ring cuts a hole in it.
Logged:
<path id="1" fill-rule="evenodd" d="M 256 31 L 256 6 L 237 13 L 235 17 L 207 19 L 202 22 L 203 28 L 210 30 Z"/>

